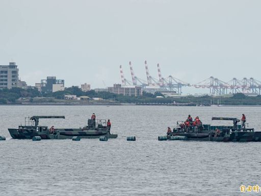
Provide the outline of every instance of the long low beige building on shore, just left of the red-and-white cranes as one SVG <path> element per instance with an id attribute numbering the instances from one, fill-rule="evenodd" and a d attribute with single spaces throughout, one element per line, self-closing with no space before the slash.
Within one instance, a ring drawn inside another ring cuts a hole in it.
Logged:
<path id="1" fill-rule="evenodd" d="M 123 94 L 126 96 L 142 95 L 141 86 L 121 86 L 121 84 L 114 84 L 113 87 L 108 87 L 108 91 L 111 93 Z"/>

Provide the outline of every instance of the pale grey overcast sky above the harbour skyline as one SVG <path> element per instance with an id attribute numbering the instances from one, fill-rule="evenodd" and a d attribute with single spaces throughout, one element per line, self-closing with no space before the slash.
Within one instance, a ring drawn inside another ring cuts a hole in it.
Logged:
<path id="1" fill-rule="evenodd" d="M 29 85 L 121 83 L 149 72 L 194 84 L 210 76 L 261 81 L 261 1 L 1 0 L 0 64 Z"/>

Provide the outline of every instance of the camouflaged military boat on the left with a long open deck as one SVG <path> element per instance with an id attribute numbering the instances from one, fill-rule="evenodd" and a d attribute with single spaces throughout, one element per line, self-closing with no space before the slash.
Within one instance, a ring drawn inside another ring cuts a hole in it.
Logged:
<path id="1" fill-rule="evenodd" d="M 25 117 L 24 126 L 20 125 L 18 129 L 8 129 L 14 139 L 32 139 L 34 136 L 40 136 L 42 139 L 71 139 L 73 136 L 81 138 L 99 138 L 106 136 L 109 138 L 118 137 L 112 134 L 110 127 L 107 127 L 106 119 L 88 119 L 88 125 L 83 128 L 55 128 L 51 126 L 39 126 L 41 118 L 65 118 L 65 116 L 32 116 Z"/>

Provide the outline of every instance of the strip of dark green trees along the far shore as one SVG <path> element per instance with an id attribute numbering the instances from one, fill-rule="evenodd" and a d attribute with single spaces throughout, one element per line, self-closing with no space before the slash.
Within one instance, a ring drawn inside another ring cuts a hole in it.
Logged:
<path id="1" fill-rule="evenodd" d="M 164 97 L 161 93 L 147 93 L 144 92 L 142 96 L 123 96 L 121 94 L 114 94 L 110 92 L 95 92 L 90 90 L 83 92 L 79 87 L 72 86 L 66 88 L 64 91 L 54 93 L 40 93 L 37 89 L 0 89 L 0 104 L 19 104 L 20 100 L 29 100 L 30 103 L 35 103 L 36 97 L 41 97 L 42 102 L 53 102 L 52 99 L 58 102 L 66 103 L 64 95 L 74 94 L 79 96 L 100 97 L 105 102 L 111 103 L 139 103 L 139 104 L 189 104 L 189 105 L 210 105 L 211 100 L 214 101 L 212 96 L 182 96 L 182 97 Z M 156 96 L 163 96 L 157 98 Z M 217 99 L 221 99 L 222 105 L 261 105 L 261 96 L 246 96 L 242 93 L 237 93 L 231 97 L 215 97 L 215 104 Z M 60 100 L 60 101 L 59 101 Z"/>

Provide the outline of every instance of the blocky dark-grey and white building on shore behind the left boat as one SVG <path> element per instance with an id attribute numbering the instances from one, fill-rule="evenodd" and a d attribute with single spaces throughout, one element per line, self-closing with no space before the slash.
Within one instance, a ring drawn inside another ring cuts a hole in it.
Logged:
<path id="1" fill-rule="evenodd" d="M 43 93 L 57 92 L 64 90 L 64 80 L 56 80 L 56 77 L 47 77 L 46 80 L 41 80 L 41 83 L 36 83 L 35 87 Z"/>

